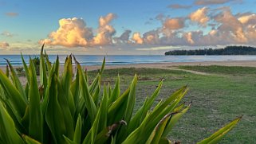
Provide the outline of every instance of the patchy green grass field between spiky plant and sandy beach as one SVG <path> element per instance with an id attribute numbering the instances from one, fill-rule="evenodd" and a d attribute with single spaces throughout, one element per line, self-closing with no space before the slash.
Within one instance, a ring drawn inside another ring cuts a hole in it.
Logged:
<path id="1" fill-rule="evenodd" d="M 153 69 L 119 68 L 105 70 L 103 83 L 114 84 L 120 74 L 121 89 L 128 88 L 135 73 L 139 75 L 136 105 L 151 95 L 160 80 L 164 79 L 159 99 L 164 99 L 175 89 L 188 84 L 190 91 L 183 102 L 191 103 L 191 109 L 172 130 L 169 138 L 183 143 L 195 143 L 210 136 L 224 124 L 243 115 L 223 143 L 254 143 L 256 141 L 256 68 L 224 66 L 181 66 L 210 75 L 201 76 L 189 72 Z M 89 72 L 89 77 L 93 76 Z"/>

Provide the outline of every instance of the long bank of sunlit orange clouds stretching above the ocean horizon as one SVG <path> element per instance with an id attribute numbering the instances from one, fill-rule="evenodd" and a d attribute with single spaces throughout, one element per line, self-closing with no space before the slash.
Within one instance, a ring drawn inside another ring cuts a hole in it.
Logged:
<path id="1" fill-rule="evenodd" d="M 211 10 L 202 7 L 180 18 L 163 17 L 161 26 L 145 33 L 127 29 L 116 37 L 112 21 L 116 14 L 99 18 L 96 29 L 90 28 L 81 18 L 63 18 L 59 28 L 40 44 L 65 47 L 99 47 L 106 45 L 256 45 L 256 15 L 252 13 L 232 14 L 228 7 Z M 191 24 L 198 29 L 189 29 Z M 205 28 L 208 30 L 206 31 Z M 186 30 L 185 30 L 186 29 Z M 209 30 L 210 29 L 210 30 Z M 94 33 L 93 33 L 94 32 Z M 131 34 L 132 33 L 132 34 Z M 132 37 L 130 37 L 132 35 Z M 129 47 L 129 46 L 128 46 Z"/>

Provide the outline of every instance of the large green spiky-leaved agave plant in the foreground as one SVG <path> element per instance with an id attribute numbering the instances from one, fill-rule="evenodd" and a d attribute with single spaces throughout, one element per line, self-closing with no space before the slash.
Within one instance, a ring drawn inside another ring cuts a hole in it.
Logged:
<path id="1" fill-rule="evenodd" d="M 152 107 L 163 84 L 160 81 L 139 110 L 133 111 L 137 76 L 120 94 L 119 76 L 114 88 L 100 84 L 105 59 L 90 84 L 87 73 L 75 57 L 74 60 L 75 75 L 72 56 L 67 56 L 60 76 L 58 57 L 51 64 L 42 46 L 37 84 L 33 60 L 30 58 L 28 66 L 22 56 L 27 79 L 25 88 L 7 60 L 10 71 L 9 68 L 6 72 L 0 70 L 0 143 L 171 143 L 168 133 L 190 107 L 179 105 L 187 86 Z M 219 142 L 240 119 L 234 119 L 199 143 Z"/>

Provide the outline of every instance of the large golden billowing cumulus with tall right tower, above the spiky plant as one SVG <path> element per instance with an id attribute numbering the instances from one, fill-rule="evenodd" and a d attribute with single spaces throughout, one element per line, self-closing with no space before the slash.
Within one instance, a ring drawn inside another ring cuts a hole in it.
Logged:
<path id="1" fill-rule="evenodd" d="M 69 48 L 111 45 L 112 36 L 116 30 L 109 23 L 114 18 L 116 18 L 115 14 L 100 17 L 96 36 L 93 34 L 93 29 L 87 27 L 82 18 L 62 18 L 59 20 L 60 26 L 57 31 L 49 33 L 48 38 L 38 42 L 39 44 L 62 45 Z"/>

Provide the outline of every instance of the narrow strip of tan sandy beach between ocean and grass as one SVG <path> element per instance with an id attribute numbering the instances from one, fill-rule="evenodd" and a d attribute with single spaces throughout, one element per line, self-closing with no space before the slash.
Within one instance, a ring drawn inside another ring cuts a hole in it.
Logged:
<path id="1" fill-rule="evenodd" d="M 104 69 L 114 69 L 114 68 L 171 68 L 178 67 L 180 65 L 221 65 L 221 66 L 242 66 L 242 67 L 256 67 L 256 60 L 235 60 L 235 61 L 203 61 L 203 62 L 167 62 L 167 63 L 147 63 L 147 64 L 115 64 L 115 65 L 105 65 Z M 22 67 L 14 66 L 14 68 Z M 75 68 L 75 66 L 73 66 Z M 97 70 L 101 68 L 101 65 L 82 65 L 82 68 L 86 68 L 89 71 Z M 0 66 L 2 71 L 6 71 L 6 66 Z M 60 66 L 60 72 L 63 71 L 63 65 Z"/>

